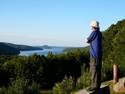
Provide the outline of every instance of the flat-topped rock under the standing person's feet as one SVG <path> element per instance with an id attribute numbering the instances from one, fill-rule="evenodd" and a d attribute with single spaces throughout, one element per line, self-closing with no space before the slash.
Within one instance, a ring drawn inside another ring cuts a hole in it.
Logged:
<path id="1" fill-rule="evenodd" d="M 85 89 L 78 91 L 75 94 L 110 94 L 108 85 L 101 85 L 100 89 L 97 92 L 90 92 Z"/>

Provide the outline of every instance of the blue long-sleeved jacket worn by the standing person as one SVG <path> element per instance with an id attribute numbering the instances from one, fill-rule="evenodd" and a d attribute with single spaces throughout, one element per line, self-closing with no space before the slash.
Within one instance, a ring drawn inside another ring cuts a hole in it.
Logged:
<path id="1" fill-rule="evenodd" d="M 102 33 L 99 29 L 92 31 L 87 42 L 90 43 L 90 56 L 102 58 Z"/>

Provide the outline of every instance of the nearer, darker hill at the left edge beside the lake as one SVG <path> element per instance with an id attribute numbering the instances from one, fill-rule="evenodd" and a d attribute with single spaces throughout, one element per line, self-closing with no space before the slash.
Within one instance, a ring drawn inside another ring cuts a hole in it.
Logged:
<path id="1" fill-rule="evenodd" d="M 0 43 L 0 55 L 17 55 L 19 53 L 18 49 L 10 47 L 5 43 Z"/>

